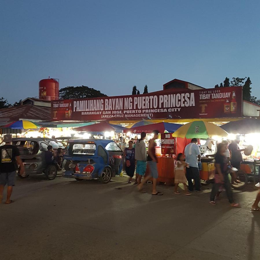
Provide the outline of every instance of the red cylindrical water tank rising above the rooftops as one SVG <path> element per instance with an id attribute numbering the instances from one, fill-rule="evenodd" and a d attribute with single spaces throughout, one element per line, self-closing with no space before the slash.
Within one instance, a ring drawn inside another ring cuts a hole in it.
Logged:
<path id="1" fill-rule="evenodd" d="M 39 98 L 44 100 L 59 99 L 59 80 L 50 78 L 40 80 Z"/>

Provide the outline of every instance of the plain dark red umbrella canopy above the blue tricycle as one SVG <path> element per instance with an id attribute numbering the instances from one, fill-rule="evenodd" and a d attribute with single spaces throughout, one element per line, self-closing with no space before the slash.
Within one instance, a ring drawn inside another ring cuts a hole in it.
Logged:
<path id="1" fill-rule="evenodd" d="M 101 122 L 94 125 L 86 125 L 83 127 L 73 128 L 74 131 L 82 131 L 82 132 L 111 132 L 111 131 L 121 132 L 124 129 L 126 128 L 118 125 L 109 124 L 107 122 Z"/>

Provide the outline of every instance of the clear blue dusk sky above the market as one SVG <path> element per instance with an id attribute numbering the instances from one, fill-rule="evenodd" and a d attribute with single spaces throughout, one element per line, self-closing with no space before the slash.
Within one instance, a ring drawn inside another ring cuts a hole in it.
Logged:
<path id="1" fill-rule="evenodd" d="M 249 76 L 260 99 L 259 13 L 257 0 L 2 0 L 0 96 L 38 96 L 48 76 L 108 96 Z"/>

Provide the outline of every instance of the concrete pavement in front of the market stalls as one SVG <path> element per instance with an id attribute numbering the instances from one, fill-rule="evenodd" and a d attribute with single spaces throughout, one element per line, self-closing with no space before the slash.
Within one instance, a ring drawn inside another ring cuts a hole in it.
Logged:
<path id="1" fill-rule="evenodd" d="M 151 196 L 152 185 L 143 194 L 126 181 L 17 179 L 15 202 L 0 205 L 0 259 L 260 259 L 252 186 L 231 208 L 225 194 L 209 203 L 211 186 Z"/>

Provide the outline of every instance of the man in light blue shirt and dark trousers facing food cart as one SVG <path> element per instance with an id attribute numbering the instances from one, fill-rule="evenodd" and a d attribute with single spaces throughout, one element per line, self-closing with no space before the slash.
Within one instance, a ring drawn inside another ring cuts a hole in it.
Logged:
<path id="1" fill-rule="evenodd" d="M 185 147 L 185 158 L 188 167 L 186 168 L 187 180 L 189 183 L 189 191 L 193 191 L 193 182 L 195 181 L 195 190 L 200 192 L 200 171 L 198 167 L 198 161 L 200 161 L 200 148 L 198 146 L 198 140 L 193 138 L 191 143 Z"/>

